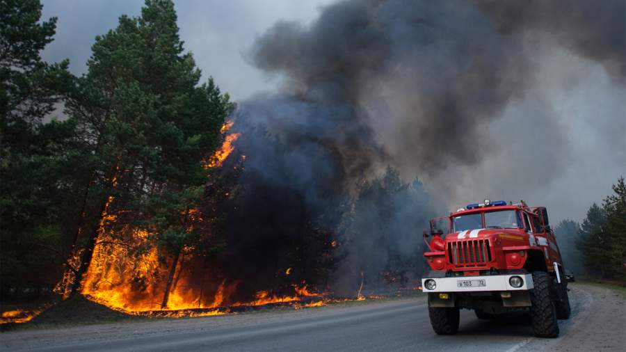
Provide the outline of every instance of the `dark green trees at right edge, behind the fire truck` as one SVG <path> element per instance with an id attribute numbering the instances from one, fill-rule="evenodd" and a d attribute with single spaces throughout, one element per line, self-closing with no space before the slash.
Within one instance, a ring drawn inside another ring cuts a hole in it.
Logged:
<path id="1" fill-rule="evenodd" d="M 556 226 L 565 268 L 575 275 L 626 282 L 626 184 L 620 177 L 613 194 L 591 205 L 582 223 Z"/>

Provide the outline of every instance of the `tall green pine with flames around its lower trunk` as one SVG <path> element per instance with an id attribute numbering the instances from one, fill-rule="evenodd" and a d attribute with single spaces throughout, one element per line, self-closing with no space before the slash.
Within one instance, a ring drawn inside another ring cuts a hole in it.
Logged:
<path id="1" fill-rule="evenodd" d="M 120 17 L 96 38 L 88 72 L 67 101 L 90 154 L 79 166 L 85 196 L 70 258 L 75 273 L 66 282 L 71 293 L 93 291 L 83 281 L 99 282 L 85 276 L 97 246 L 147 247 L 171 263 L 170 287 L 182 250 L 197 238 L 194 209 L 209 177 L 203 163 L 232 103 L 212 79 L 198 85 L 200 70 L 184 53 L 176 19 L 172 2 L 160 0 L 146 1 L 140 17 Z"/>

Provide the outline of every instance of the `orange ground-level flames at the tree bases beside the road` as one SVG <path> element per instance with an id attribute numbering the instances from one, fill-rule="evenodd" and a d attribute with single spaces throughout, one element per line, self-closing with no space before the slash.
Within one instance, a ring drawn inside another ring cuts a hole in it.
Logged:
<path id="1" fill-rule="evenodd" d="M 135 230 L 132 237 L 140 248 L 148 246 L 145 231 Z M 218 281 L 214 289 L 205 291 L 204 287 L 188 276 L 186 262 L 193 260 L 192 255 L 180 259 L 177 263 L 175 280 L 168 296 L 166 308 L 161 308 L 161 298 L 168 272 L 167 262 L 163 262 L 157 247 L 151 247 L 141 255 L 134 254 L 132 248 L 109 241 L 103 234 L 96 246 L 93 261 L 83 281 L 83 294 L 91 300 L 129 314 L 150 315 L 154 317 L 201 317 L 225 314 L 227 307 L 259 306 L 272 303 L 297 303 L 303 298 L 321 298 L 303 285 L 294 285 L 294 293 L 287 296 L 258 291 L 251 301 L 232 301 L 232 296 L 239 286 L 238 281 Z M 289 269 L 288 269 L 289 270 Z M 210 280 L 210 278 L 208 279 Z M 320 303 L 321 304 L 321 303 Z"/>

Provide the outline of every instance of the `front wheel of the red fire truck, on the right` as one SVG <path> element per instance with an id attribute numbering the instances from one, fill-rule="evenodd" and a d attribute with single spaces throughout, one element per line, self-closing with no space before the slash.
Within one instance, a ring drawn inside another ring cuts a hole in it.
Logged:
<path id="1" fill-rule="evenodd" d="M 533 273 L 534 288 L 530 291 L 531 319 L 538 337 L 559 336 L 559 321 L 556 320 L 556 307 L 550 294 L 551 284 L 552 278 L 545 271 Z"/>

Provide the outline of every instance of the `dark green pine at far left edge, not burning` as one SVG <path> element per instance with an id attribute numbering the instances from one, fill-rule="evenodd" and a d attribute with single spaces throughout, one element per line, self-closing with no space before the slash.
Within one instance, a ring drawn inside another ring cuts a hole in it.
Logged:
<path id="1" fill-rule="evenodd" d="M 56 18 L 38 0 L 0 0 L 0 282 L 2 296 L 49 291 L 65 259 L 74 126 L 42 121 L 71 83 L 67 61 L 40 51 Z M 34 290 L 33 290 L 34 289 Z"/>

